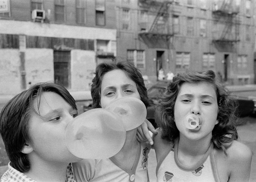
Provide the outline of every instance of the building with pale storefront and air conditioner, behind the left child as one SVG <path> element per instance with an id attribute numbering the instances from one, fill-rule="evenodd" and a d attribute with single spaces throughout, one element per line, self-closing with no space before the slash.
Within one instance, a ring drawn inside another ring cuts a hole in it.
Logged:
<path id="1" fill-rule="evenodd" d="M 1 0 L 0 94 L 38 82 L 90 90 L 116 56 L 115 0 Z"/>

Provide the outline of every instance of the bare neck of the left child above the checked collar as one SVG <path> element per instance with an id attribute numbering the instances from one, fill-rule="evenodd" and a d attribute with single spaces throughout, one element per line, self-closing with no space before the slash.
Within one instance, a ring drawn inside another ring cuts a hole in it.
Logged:
<path id="1" fill-rule="evenodd" d="M 31 160 L 30 170 L 24 174 L 38 182 L 64 182 L 68 163 Z"/>

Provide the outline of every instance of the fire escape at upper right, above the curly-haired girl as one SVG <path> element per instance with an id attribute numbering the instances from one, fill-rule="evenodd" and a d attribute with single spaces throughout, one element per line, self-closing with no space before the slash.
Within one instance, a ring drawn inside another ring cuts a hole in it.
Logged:
<path id="1" fill-rule="evenodd" d="M 218 1 L 212 11 L 215 21 L 223 25 L 223 31 L 220 36 L 213 38 L 215 47 L 222 52 L 234 52 L 234 46 L 239 39 L 239 9 L 234 6 L 234 1 Z"/>

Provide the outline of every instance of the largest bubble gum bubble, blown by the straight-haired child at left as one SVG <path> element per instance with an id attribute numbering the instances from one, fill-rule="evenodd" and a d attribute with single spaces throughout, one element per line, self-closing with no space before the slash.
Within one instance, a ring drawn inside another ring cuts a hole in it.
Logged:
<path id="1" fill-rule="evenodd" d="M 112 157 L 122 149 L 125 138 L 119 116 L 103 108 L 78 115 L 65 131 L 68 150 L 83 159 Z"/>

